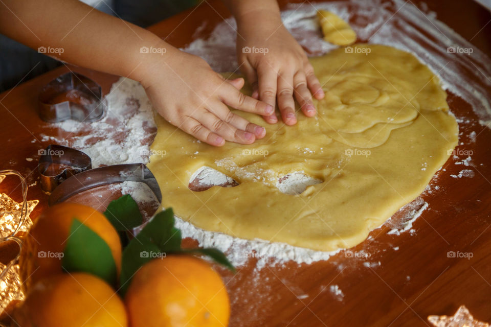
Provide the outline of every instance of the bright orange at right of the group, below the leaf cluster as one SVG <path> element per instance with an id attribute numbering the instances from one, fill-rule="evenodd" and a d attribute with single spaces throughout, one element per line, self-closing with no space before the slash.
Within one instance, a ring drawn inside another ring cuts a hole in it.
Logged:
<path id="1" fill-rule="evenodd" d="M 191 255 L 169 255 L 143 265 L 124 301 L 132 327 L 224 327 L 230 318 L 220 275 Z"/>

